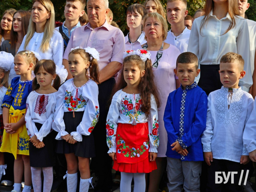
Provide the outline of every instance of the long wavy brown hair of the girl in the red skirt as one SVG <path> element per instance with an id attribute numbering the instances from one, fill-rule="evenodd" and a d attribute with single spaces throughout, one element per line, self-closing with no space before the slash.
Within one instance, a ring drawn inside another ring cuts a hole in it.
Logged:
<path id="1" fill-rule="evenodd" d="M 147 61 L 143 62 L 138 55 L 130 55 L 125 57 L 119 79 L 115 87 L 113 88 L 111 99 L 118 90 L 121 90 L 127 86 L 124 78 L 124 67 L 127 63 L 137 64 L 140 71 L 145 70 L 145 75 L 140 79 L 138 89 L 140 90 L 140 96 L 143 102 L 143 105 L 141 106 L 141 111 L 148 115 L 151 109 L 151 94 L 155 98 L 157 108 L 160 107 L 159 93 L 157 90 L 157 86 L 154 82 L 154 73 L 152 70 L 152 63 L 150 59 L 147 59 Z"/>

